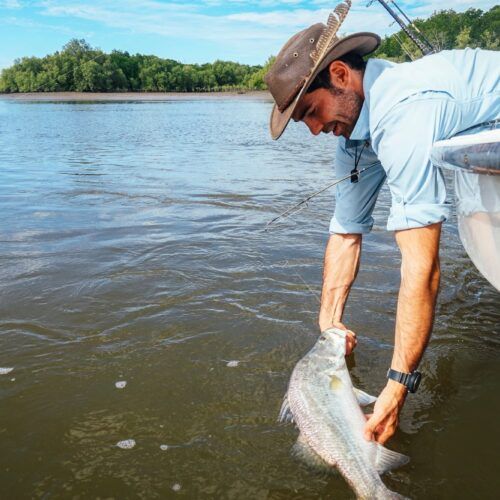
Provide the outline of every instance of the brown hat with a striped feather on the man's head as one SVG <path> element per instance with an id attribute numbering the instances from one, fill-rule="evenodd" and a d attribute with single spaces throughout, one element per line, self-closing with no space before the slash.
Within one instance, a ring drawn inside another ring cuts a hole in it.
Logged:
<path id="1" fill-rule="evenodd" d="M 276 61 L 264 77 L 275 102 L 270 121 L 273 139 L 279 139 L 297 103 L 318 73 L 348 52 L 365 56 L 380 45 L 380 37 L 375 33 L 337 37 L 350 6 L 351 0 L 337 5 L 327 24 L 313 24 L 292 36 L 276 56 Z"/>

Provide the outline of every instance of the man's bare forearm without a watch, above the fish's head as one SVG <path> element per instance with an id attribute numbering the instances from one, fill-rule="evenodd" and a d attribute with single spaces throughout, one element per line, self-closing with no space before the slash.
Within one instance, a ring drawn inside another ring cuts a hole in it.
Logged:
<path id="1" fill-rule="evenodd" d="M 345 303 L 359 269 L 360 234 L 333 234 L 323 268 L 319 326 L 321 331 L 342 321 Z"/>

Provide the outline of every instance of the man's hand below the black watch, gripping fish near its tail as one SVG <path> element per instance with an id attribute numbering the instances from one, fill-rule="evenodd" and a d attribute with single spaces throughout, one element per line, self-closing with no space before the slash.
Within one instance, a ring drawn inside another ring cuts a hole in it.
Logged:
<path id="1" fill-rule="evenodd" d="M 399 412 L 407 394 L 404 385 L 389 380 L 375 403 L 373 414 L 365 425 L 365 439 L 374 439 L 384 444 L 395 432 L 399 422 Z"/>

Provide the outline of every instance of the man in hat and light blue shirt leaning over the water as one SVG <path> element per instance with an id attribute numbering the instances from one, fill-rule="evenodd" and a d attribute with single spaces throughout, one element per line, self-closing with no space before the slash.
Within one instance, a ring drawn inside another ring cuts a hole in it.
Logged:
<path id="1" fill-rule="evenodd" d="M 500 116 L 499 53 L 447 51 L 394 64 L 363 56 L 380 39 L 373 33 L 338 38 L 350 1 L 335 9 L 328 26 L 315 24 L 292 37 L 266 75 L 275 100 L 271 135 L 278 139 L 290 119 L 312 134 L 339 137 L 337 177 L 370 169 L 337 185 L 335 213 L 324 261 L 319 314 L 321 331 L 355 334 L 342 313 L 359 268 L 362 235 L 387 181 L 392 207 L 387 229 L 402 256 L 395 346 L 387 385 L 367 421 L 365 437 L 384 443 L 397 428 L 408 390 L 429 340 L 439 288 L 441 225 L 450 213 L 441 171 L 430 161 L 435 141 Z"/>

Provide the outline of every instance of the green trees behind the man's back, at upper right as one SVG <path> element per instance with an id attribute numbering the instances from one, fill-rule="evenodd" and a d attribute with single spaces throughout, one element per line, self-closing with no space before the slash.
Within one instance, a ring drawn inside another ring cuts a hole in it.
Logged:
<path id="1" fill-rule="evenodd" d="M 454 10 L 435 12 L 428 19 L 417 19 L 414 25 L 437 50 L 480 47 L 489 50 L 500 48 L 500 5 L 489 11 L 469 9 L 458 13 Z M 385 37 L 373 57 L 408 61 L 422 54 L 403 31 Z"/>

